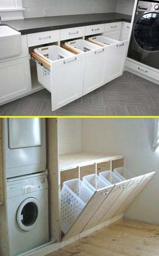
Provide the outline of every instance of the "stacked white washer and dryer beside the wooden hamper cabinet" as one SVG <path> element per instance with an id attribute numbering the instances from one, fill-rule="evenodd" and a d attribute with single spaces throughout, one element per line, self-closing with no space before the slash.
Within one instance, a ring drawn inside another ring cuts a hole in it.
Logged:
<path id="1" fill-rule="evenodd" d="M 44 119 L 5 119 L 9 253 L 49 242 Z"/>

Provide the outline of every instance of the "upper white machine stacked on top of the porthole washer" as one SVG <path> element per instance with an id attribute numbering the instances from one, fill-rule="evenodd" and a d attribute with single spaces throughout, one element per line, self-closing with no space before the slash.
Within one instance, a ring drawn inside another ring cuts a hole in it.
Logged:
<path id="1" fill-rule="evenodd" d="M 5 119 L 7 178 L 46 169 L 45 119 Z"/>

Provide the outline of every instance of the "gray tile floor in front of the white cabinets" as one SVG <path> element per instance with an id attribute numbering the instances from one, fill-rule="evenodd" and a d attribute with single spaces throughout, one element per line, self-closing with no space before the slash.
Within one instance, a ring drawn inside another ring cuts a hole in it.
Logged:
<path id="1" fill-rule="evenodd" d="M 159 85 L 125 71 L 122 77 L 100 89 L 51 111 L 51 95 L 45 89 L 0 107 L 2 116 L 158 116 Z"/>

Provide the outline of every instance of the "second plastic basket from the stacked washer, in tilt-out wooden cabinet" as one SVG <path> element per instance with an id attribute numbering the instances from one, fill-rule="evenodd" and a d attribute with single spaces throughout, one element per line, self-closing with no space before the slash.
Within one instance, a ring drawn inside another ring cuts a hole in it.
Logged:
<path id="1" fill-rule="evenodd" d="M 88 186 L 93 192 L 110 186 L 110 182 L 104 181 L 96 174 L 86 175 L 83 177 L 84 184 Z"/>

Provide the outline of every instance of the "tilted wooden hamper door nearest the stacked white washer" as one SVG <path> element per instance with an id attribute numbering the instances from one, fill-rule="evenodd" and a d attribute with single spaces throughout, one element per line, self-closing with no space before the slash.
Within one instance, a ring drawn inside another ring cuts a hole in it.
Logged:
<path id="1" fill-rule="evenodd" d="M 77 234 L 81 233 L 86 227 L 87 223 L 90 221 L 94 213 L 98 210 L 100 205 L 104 202 L 110 192 L 113 190 L 114 186 L 98 190 L 94 193 L 82 213 L 79 215 L 69 232 L 64 236 L 63 240 L 67 240 Z"/>

